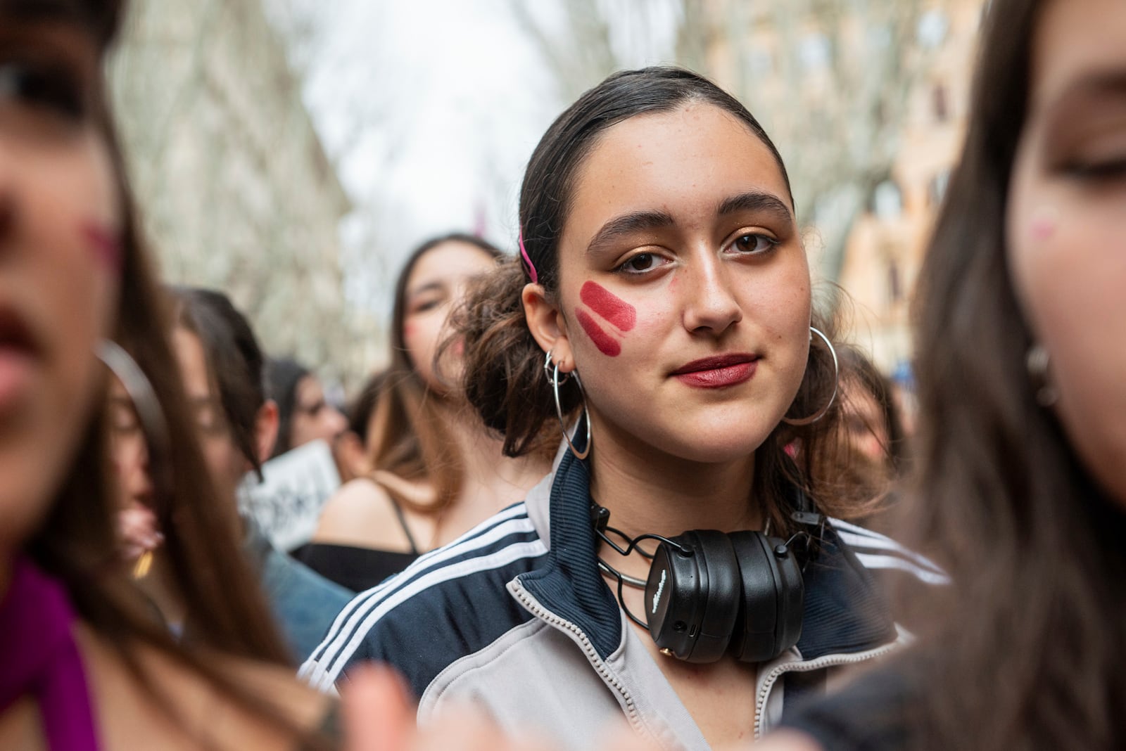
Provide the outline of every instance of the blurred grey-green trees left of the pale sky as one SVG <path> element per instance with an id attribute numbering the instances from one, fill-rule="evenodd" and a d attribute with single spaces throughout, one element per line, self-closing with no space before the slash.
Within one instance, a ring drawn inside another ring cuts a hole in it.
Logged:
<path id="1" fill-rule="evenodd" d="M 343 293 L 351 205 L 260 0 L 138 0 L 109 75 L 166 279 L 226 291 L 270 354 L 360 378 L 377 337 Z"/>

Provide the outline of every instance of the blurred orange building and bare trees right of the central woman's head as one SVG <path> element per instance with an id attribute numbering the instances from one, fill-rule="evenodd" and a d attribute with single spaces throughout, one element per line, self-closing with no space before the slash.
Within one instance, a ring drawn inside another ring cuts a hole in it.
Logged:
<path id="1" fill-rule="evenodd" d="M 902 373 L 985 0 L 696 1 L 725 21 L 700 25 L 706 67 L 778 143 L 815 273 L 851 298 L 852 341 Z"/>

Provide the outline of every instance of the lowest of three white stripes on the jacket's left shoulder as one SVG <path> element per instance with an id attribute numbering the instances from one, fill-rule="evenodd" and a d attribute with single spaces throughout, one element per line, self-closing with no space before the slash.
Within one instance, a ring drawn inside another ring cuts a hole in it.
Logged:
<path id="1" fill-rule="evenodd" d="M 450 579 L 457 579 L 481 571 L 489 571 L 491 569 L 499 569 L 503 565 L 508 565 L 512 561 L 520 560 L 521 558 L 534 558 L 536 555 L 543 555 L 545 552 L 547 552 L 547 546 L 543 543 L 543 541 L 534 540 L 531 542 L 509 545 L 508 548 L 503 548 L 491 555 L 459 561 L 452 565 L 431 571 L 426 576 L 419 577 L 410 585 L 393 592 L 392 595 L 388 595 L 374 609 L 367 613 L 363 623 L 359 624 L 359 628 L 355 630 L 355 633 L 351 639 L 347 641 L 347 643 L 333 644 L 325 651 L 324 654 L 321 655 L 320 659 L 310 659 L 306 661 L 305 664 L 302 666 L 300 675 L 307 676 L 315 672 L 319 682 L 313 684 L 314 688 L 322 691 L 327 690 L 328 686 L 334 682 L 337 677 L 340 675 L 340 671 L 343 669 L 348 658 L 351 657 L 357 649 L 359 649 L 360 642 L 364 641 L 368 632 L 375 627 L 375 624 L 379 622 L 379 618 L 396 606 L 429 589 L 430 587 L 449 581 Z M 340 634 L 337 642 L 342 642 L 347 639 L 347 633 L 348 632 L 343 632 Z"/>

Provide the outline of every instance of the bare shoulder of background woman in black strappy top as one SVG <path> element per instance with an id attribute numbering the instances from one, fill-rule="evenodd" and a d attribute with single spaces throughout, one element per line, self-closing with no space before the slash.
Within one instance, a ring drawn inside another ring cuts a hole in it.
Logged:
<path id="1" fill-rule="evenodd" d="M 403 542 L 394 501 L 366 478 L 346 482 L 325 501 L 313 540 L 379 549 Z"/>

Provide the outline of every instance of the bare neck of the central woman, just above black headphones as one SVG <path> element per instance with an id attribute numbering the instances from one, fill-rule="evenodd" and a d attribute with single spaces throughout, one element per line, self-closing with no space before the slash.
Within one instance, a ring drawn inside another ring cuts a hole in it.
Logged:
<path id="1" fill-rule="evenodd" d="M 699 463 L 616 438 L 610 429 L 597 431 L 591 452 L 591 495 L 610 510 L 610 526 L 632 537 L 761 528 L 761 509 L 751 498 L 753 453 Z"/>

